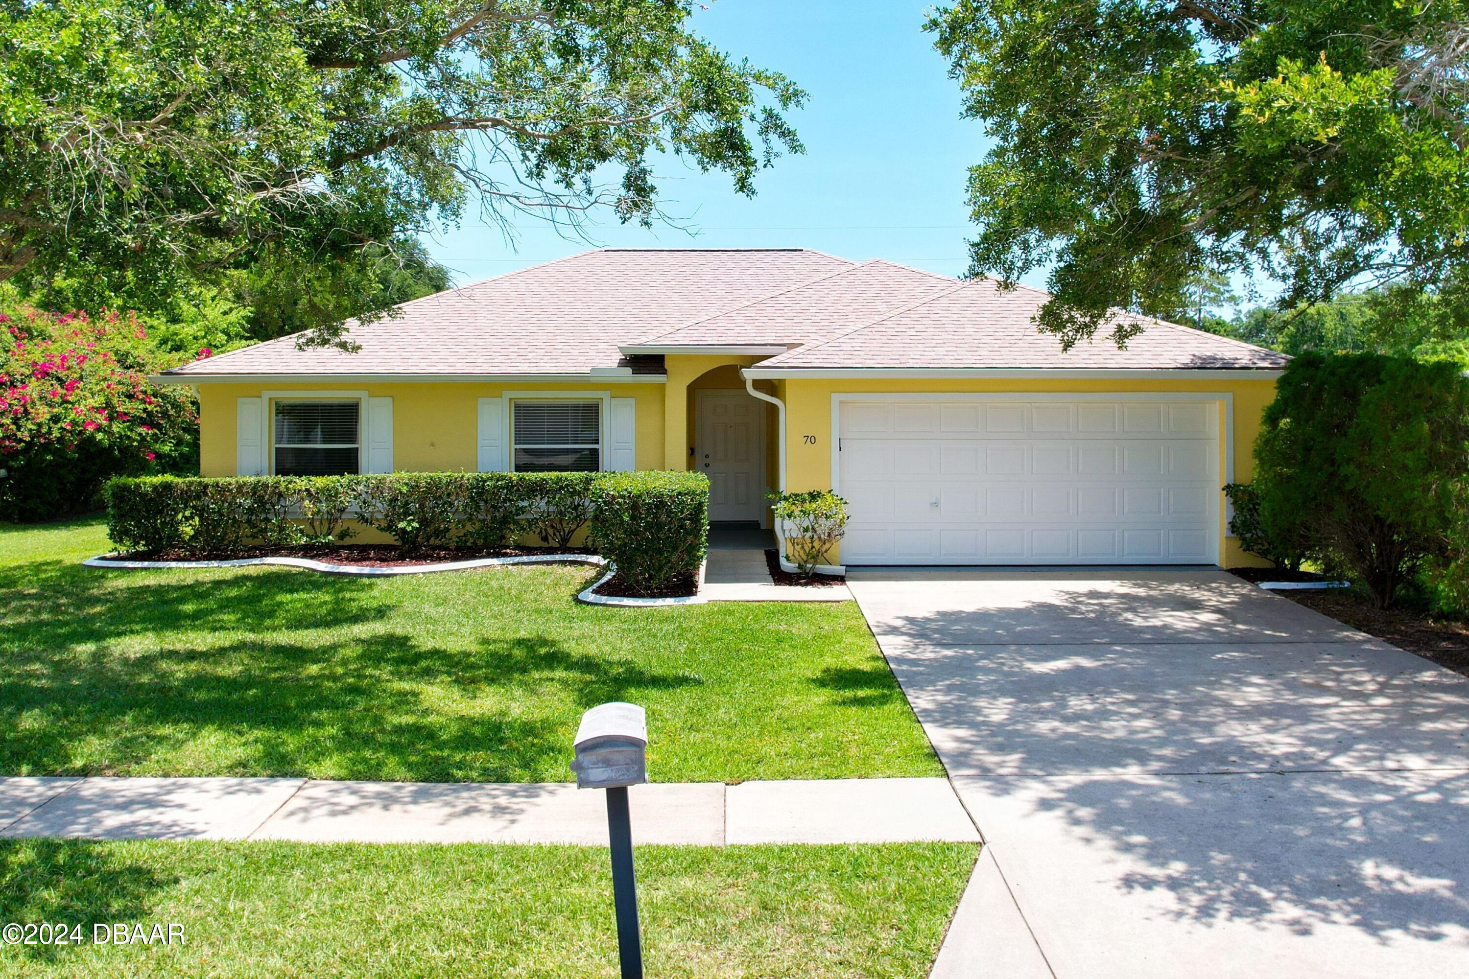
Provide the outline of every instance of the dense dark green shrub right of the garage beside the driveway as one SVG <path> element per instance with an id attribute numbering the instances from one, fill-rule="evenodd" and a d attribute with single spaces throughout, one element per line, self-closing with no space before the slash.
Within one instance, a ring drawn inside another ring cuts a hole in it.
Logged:
<path id="1" fill-rule="evenodd" d="M 1469 380 L 1453 363 L 1303 354 L 1255 443 L 1271 540 L 1315 542 L 1379 606 L 1450 556 L 1469 476 Z"/>

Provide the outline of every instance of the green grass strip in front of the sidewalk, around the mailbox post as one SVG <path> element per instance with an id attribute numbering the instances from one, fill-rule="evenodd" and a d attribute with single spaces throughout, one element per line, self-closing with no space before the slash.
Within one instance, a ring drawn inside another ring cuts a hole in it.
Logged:
<path id="1" fill-rule="evenodd" d="M 649 976 L 928 972 L 965 844 L 640 847 Z M 175 947 L 0 947 L 6 976 L 616 976 L 592 847 L 0 844 L 0 922 L 184 926 Z"/>

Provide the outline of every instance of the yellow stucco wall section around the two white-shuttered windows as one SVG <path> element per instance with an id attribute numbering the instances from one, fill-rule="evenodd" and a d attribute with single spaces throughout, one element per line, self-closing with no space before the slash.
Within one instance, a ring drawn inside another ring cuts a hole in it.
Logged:
<path id="1" fill-rule="evenodd" d="M 235 476 L 235 399 L 259 398 L 285 385 L 200 385 L 200 473 Z M 474 471 L 479 467 L 479 399 L 517 390 L 607 390 L 638 399 L 636 465 L 663 468 L 663 385 L 301 385 L 301 390 L 366 390 L 392 398 L 392 464 L 413 473 Z"/>

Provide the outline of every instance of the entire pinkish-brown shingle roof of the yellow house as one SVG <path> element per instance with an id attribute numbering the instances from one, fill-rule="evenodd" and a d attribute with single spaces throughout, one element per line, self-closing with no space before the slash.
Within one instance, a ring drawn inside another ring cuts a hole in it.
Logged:
<path id="1" fill-rule="evenodd" d="M 761 368 L 1279 368 L 1285 357 L 1146 320 L 1118 349 L 1036 332 L 1044 292 L 804 248 L 604 248 L 414 299 L 354 324 L 358 352 L 257 343 L 166 371 L 238 376 L 588 374 L 620 346 L 790 346 Z M 642 358 L 639 358 L 642 360 Z"/>

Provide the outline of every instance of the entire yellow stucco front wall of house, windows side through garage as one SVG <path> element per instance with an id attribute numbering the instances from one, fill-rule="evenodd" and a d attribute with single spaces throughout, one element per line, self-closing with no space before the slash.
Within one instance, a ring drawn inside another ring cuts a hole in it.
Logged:
<path id="1" fill-rule="evenodd" d="M 366 390 L 375 398 L 392 398 L 394 467 L 408 471 L 473 471 L 477 467 L 479 398 L 498 398 L 505 390 L 608 390 L 614 398 L 638 399 L 636 465 L 640 470 L 690 465 L 693 445 L 693 396 L 705 387 L 743 387 L 737 368 L 755 358 L 727 355 L 667 357 L 667 385 L 658 383 L 586 383 L 586 385 L 303 385 L 303 390 Z M 949 380 L 949 379 L 812 379 L 761 382 L 759 387 L 786 402 L 787 486 L 793 490 L 831 486 L 831 395 L 833 393 L 1106 393 L 1106 392 L 1205 392 L 1234 396 L 1234 480 L 1249 481 L 1252 448 L 1260 412 L 1275 395 L 1272 380 Z M 200 385 L 200 471 L 204 476 L 235 474 L 235 399 L 281 390 L 282 385 Z M 779 439 L 776 412 L 767 412 L 767 478 L 777 483 Z M 1224 414 L 1221 408 L 1221 432 Z M 805 436 L 812 440 L 806 442 Z M 1221 452 L 1225 440 L 1221 439 Z M 1221 459 L 1221 476 L 1228 465 Z M 1227 567 L 1265 564 L 1240 550 L 1238 542 L 1224 536 L 1219 506 L 1219 534 Z"/>

